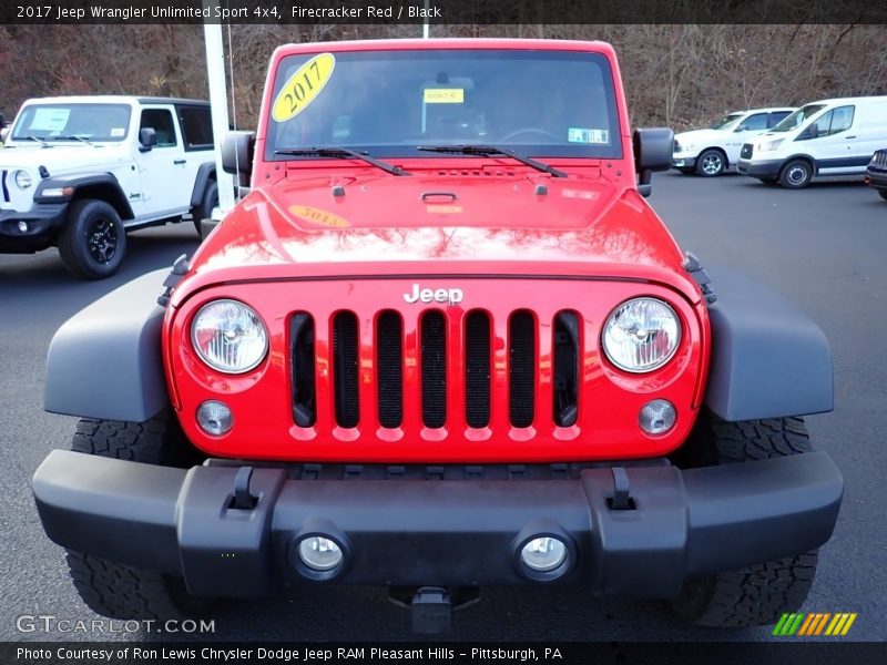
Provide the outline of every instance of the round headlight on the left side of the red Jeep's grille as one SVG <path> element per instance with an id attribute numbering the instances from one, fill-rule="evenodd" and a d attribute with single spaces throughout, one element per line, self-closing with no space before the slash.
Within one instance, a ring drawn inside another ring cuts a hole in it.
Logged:
<path id="1" fill-rule="evenodd" d="M 268 332 L 258 315 L 237 300 L 214 300 L 194 317 L 191 339 L 201 359 L 225 374 L 243 374 L 268 352 Z"/>

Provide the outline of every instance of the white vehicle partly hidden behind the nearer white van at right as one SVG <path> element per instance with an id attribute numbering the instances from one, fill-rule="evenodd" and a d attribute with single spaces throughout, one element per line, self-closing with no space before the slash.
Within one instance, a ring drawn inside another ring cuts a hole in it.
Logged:
<path id="1" fill-rule="evenodd" d="M 748 109 L 727 113 L 707 130 L 674 135 L 672 167 L 681 173 L 712 177 L 721 175 L 740 158 L 740 150 L 752 136 L 776 126 L 794 108 Z"/>

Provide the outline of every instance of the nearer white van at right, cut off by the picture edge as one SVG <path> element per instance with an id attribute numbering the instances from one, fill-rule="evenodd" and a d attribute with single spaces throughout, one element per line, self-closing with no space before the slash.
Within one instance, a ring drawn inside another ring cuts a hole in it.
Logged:
<path id="1" fill-rule="evenodd" d="M 806 104 L 745 143 L 736 168 L 763 183 L 799 190 L 814 176 L 859 175 L 887 145 L 887 96 Z"/>

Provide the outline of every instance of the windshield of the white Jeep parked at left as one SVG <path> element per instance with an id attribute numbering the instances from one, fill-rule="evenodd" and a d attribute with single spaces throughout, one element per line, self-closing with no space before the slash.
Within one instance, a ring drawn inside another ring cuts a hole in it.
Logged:
<path id="1" fill-rule="evenodd" d="M 123 141 L 130 127 L 126 104 L 31 104 L 12 131 L 17 141 Z"/>

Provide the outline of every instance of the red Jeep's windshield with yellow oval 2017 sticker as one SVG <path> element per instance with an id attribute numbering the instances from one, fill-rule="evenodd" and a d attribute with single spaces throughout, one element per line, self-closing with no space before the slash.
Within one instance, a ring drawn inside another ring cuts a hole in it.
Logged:
<path id="1" fill-rule="evenodd" d="M 292 160 L 275 152 L 312 146 L 428 157 L 418 147 L 441 144 L 495 145 L 537 156 L 621 157 L 612 74 L 606 59 L 595 53 L 292 55 L 278 68 L 272 106 L 267 160 Z"/>

